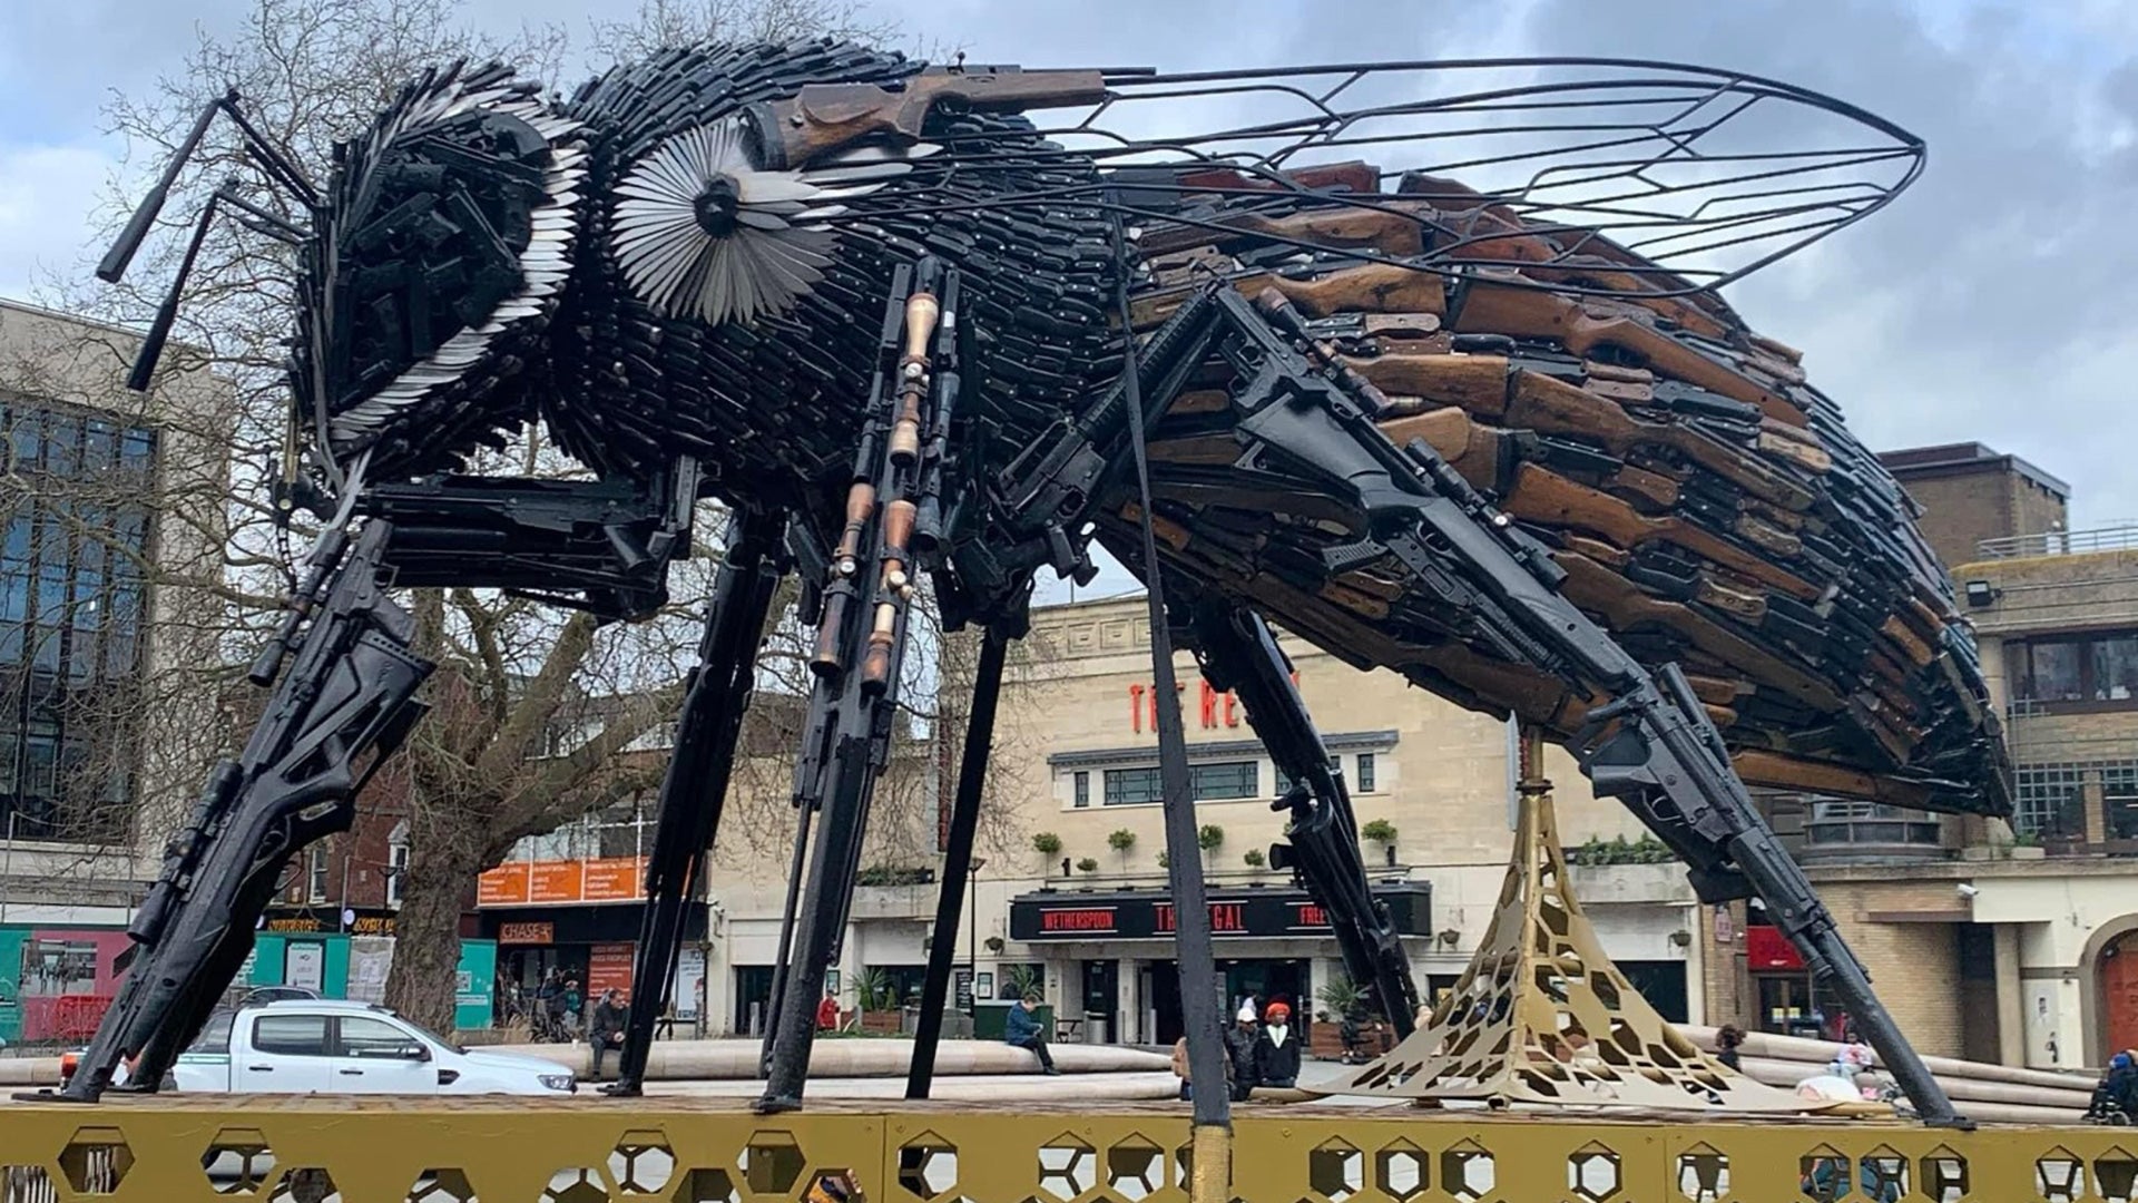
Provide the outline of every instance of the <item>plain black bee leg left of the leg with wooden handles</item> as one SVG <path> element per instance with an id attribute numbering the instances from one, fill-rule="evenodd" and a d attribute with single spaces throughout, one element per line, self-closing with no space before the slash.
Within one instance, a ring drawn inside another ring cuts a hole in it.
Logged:
<path id="1" fill-rule="evenodd" d="M 646 916 L 631 968 L 631 1017 L 616 1081 L 605 1094 L 641 1092 L 654 1025 L 673 1002 L 684 903 L 703 882 L 706 856 L 721 831 L 735 738 L 757 679 L 757 640 L 785 576 L 778 554 L 785 527 L 776 514 L 759 512 L 738 512 L 727 527 L 727 557 L 706 610 L 697 668 L 684 685 L 676 747 L 661 779 L 661 811 L 646 865 Z"/>

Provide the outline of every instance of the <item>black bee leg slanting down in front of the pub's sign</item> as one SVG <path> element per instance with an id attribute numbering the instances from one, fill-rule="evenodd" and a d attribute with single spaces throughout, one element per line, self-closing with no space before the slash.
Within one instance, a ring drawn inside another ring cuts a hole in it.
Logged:
<path id="1" fill-rule="evenodd" d="M 1417 1023 L 1411 959 L 1388 908 L 1375 901 L 1366 882 L 1351 794 L 1291 683 L 1291 664 L 1276 646 L 1270 625 L 1244 606 L 1206 595 L 1193 599 L 1191 614 L 1191 640 L 1204 679 L 1246 702 L 1249 726 L 1270 749 L 1279 773 L 1291 781 L 1272 805 L 1291 811 L 1287 843 L 1270 850 L 1274 867 L 1298 873 L 1306 895 L 1330 916 L 1345 972 L 1353 983 L 1370 985 L 1373 1000 L 1394 1023 L 1396 1036 L 1409 1036 Z"/>

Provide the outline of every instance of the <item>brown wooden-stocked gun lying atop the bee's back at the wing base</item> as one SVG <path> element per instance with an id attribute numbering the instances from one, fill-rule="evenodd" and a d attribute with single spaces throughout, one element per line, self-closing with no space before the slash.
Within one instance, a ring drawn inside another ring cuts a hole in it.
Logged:
<path id="1" fill-rule="evenodd" d="M 1097 71 L 928 68 L 907 77 L 900 88 L 806 83 L 787 101 L 753 105 L 750 116 L 768 158 L 765 167 L 789 171 L 827 150 L 879 133 L 919 141 L 936 105 L 975 113 L 1016 113 L 1099 101 L 1105 101 L 1105 77 Z"/>

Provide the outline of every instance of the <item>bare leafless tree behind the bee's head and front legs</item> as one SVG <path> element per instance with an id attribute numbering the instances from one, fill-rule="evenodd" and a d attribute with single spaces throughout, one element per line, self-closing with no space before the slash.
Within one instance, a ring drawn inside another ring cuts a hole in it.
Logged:
<path id="1" fill-rule="evenodd" d="M 885 36 L 889 26 L 868 21 L 866 9 L 842 0 L 646 0 L 635 19 L 592 21 L 590 41 L 597 56 L 616 58 L 652 45 L 815 32 Z M 130 167 L 152 169 L 212 96 L 237 86 L 261 133 L 293 161 L 321 169 L 336 139 L 363 131 L 425 66 L 498 58 L 556 81 L 571 56 L 571 41 L 558 28 L 522 28 L 505 39 L 468 28 L 458 0 L 254 0 L 237 30 L 201 32 L 177 71 L 154 88 L 113 96 L 107 120 L 126 139 Z M 227 178 L 254 180 L 235 137 L 218 128 L 182 188 L 199 201 Z M 278 195 L 239 186 L 248 199 L 286 212 Z M 128 203 L 115 182 L 105 212 L 109 229 L 124 220 Z M 167 225 L 188 220 L 197 208 L 175 199 Z M 152 240 L 126 287 L 56 280 L 47 295 L 58 308 L 141 325 L 160 302 L 180 244 L 169 231 Z M 205 634 L 222 655 L 175 668 L 190 676 L 167 696 L 203 689 L 222 696 L 291 576 L 295 539 L 276 522 L 272 490 L 289 407 L 282 338 L 291 330 L 291 276 L 284 246 L 235 227 L 218 231 L 203 248 L 165 360 L 165 375 L 214 372 L 227 383 L 229 402 L 214 413 L 171 420 L 197 422 L 199 437 L 214 437 L 231 467 L 192 492 L 160 499 L 220 550 L 199 565 L 152 565 L 158 589 L 201 589 L 218 602 L 214 616 L 201 621 L 214 625 Z M 524 435 L 511 454 L 552 467 L 537 432 Z M 701 522 L 703 533 L 716 529 L 716 520 Z M 703 597 L 708 572 L 706 561 L 684 565 L 676 595 Z M 678 610 L 599 627 L 584 614 L 560 616 L 468 589 L 425 591 L 413 606 L 419 651 L 438 670 L 425 687 L 432 715 L 404 751 L 410 858 L 400 882 L 387 1000 L 423 1023 L 449 1025 L 458 920 L 472 880 L 517 839 L 659 779 L 659 764 L 650 762 L 659 758 L 626 749 L 671 715 L 676 681 L 695 651 L 697 616 Z M 774 627 L 768 689 L 778 691 L 780 674 L 800 666 L 800 646 L 791 629 Z M 242 726 L 227 724 L 224 743 L 242 738 Z M 212 751 L 227 747 L 203 756 Z"/>

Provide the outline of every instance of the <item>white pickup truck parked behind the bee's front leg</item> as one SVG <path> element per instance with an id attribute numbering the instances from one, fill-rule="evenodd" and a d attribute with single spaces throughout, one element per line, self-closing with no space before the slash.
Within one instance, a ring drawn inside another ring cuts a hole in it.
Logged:
<path id="1" fill-rule="evenodd" d="M 180 1094 L 547 1094 L 569 1066 L 462 1049 L 366 1002 L 289 1000 L 210 1017 L 177 1057 Z"/>

